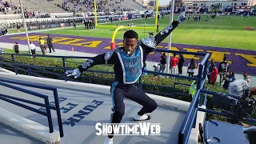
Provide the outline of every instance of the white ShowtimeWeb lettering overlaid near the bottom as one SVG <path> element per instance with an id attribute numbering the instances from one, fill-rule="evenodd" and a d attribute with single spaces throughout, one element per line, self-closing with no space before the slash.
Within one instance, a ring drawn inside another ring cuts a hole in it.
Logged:
<path id="1" fill-rule="evenodd" d="M 95 125 L 97 135 L 161 135 L 161 124 L 139 123 L 100 123 Z M 111 134 L 112 130 L 114 134 Z"/>

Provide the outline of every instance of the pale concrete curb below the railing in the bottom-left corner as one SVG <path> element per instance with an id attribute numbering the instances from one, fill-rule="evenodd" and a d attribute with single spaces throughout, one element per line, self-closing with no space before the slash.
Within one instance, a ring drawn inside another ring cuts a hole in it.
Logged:
<path id="1" fill-rule="evenodd" d="M 0 108 L 0 122 L 44 143 L 59 143 L 61 140 L 58 130 L 50 133 L 48 127 L 2 108 Z"/>

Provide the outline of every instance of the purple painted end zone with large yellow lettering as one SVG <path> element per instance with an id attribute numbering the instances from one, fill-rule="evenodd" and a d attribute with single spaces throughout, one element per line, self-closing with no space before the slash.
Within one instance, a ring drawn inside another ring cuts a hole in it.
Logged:
<path id="1" fill-rule="evenodd" d="M 111 38 L 94 38 L 94 37 L 83 37 L 74 35 L 61 35 L 51 34 L 54 43 L 54 49 L 56 50 L 72 50 L 82 52 L 86 54 L 103 54 L 110 51 L 110 42 L 115 42 L 116 47 L 123 46 L 122 39 Z M 38 38 L 47 38 L 47 34 L 42 33 L 31 33 L 30 41 L 34 42 L 38 46 Z M 26 37 L 24 34 L 6 35 L 1 38 L 1 42 L 13 43 L 18 42 L 20 45 L 26 45 Z M 0 43 L 1 43 L 0 42 Z M 168 43 L 161 42 L 157 48 L 159 50 L 167 50 Z M 256 51 L 255 50 L 239 50 L 234 48 L 222 48 L 214 46 L 195 46 L 195 45 L 184 45 L 172 43 L 172 50 L 174 51 L 186 51 L 186 52 L 202 52 L 210 54 L 210 59 L 214 59 L 215 65 L 219 66 L 219 63 L 223 61 L 223 58 L 228 58 L 230 62 L 230 70 L 233 70 L 235 74 L 243 74 L 245 71 L 250 76 L 256 76 Z M 161 53 L 152 52 L 148 55 L 146 61 L 148 62 L 159 62 Z M 185 63 L 183 66 L 188 66 L 190 59 L 194 58 L 197 63 L 202 62 L 202 57 L 184 54 Z M 173 57 L 173 54 L 170 54 Z M 210 62 L 208 62 L 210 63 Z"/>

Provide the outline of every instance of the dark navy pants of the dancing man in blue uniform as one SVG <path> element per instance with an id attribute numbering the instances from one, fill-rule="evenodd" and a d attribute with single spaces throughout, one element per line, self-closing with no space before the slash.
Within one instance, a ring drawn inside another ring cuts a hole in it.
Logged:
<path id="1" fill-rule="evenodd" d="M 129 98 L 134 102 L 142 105 L 142 109 L 138 112 L 138 115 L 143 115 L 146 113 L 151 113 L 154 111 L 158 105 L 154 102 L 154 99 L 147 96 L 142 90 L 139 90 L 133 85 L 123 85 L 114 82 L 111 86 L 111 97 L 112 97 L 112 111 L 111 123 L 120 123 L 122 116 L 125 114 L 125 104 L 123 103 L 124 98 Z M 114 134 L 112 132 L 112 134 Z M 109 135 L 109 138 L 113 138 L 113 135 Z"/>

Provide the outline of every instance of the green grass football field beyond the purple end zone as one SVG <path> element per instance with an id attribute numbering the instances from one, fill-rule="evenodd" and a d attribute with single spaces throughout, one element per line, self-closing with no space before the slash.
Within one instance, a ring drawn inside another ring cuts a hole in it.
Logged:
<path id="1" fill-rule="evenodd" d="M 174 20 L 177 17 L 174 16 Z M 181 44 L 191 44 L 200 46 L 218 46 L 246 50 L 256 50 L 256 30 L 244 30 L 245 26 L 252 26 L 256 29 L 256 17 L 242 18 L 241 16 L 225 16 L 214 18 L 206 22 L 206 15 L 203 15 L 200 22 L 194 22 L 193 15 L 190 20 L 183 22 L 172 33 L 172 42 Z M 128 23 L 134 23 L 136 26 L 154 26 L 154 18 L 140 19 L 126 22 L 115 22 L 112 25 L 126 26 Z M 163 30 L 169 25 L 170 17 L 166 16 L 159 19 L 160 29 Z M 104 24 L 111 25 L 111 24 Z M 125 30 L 118 31 L 116 38 L 122 39 Z M 156 30 L 136 30 L 139 38 L 147 37 L 148 32 Z M 46 34 L 66 34 L 79 35 L 86 37 L 112 38 L 114 28 L 96 28 L 95 30 L 85 30 L 84 27 L 63 30 L 50 30 L 42 33 Z M 168 42 L 166 38 L 164 42 Z"/>

